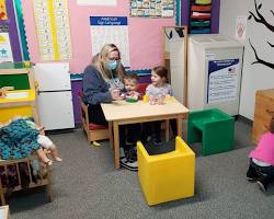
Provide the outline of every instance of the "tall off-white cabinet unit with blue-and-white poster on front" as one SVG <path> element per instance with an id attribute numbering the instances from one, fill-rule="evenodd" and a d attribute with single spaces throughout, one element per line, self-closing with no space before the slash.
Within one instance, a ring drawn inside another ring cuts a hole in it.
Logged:
<path id="1" fill-rule="evenodd" d="M 187 107 L 239 114 L 243 45 L 219 34 L 190 35 Z"/>

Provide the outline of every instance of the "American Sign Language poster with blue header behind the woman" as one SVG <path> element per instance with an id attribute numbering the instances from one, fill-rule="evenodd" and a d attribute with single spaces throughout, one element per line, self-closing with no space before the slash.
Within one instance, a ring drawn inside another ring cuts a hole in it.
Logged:
<path id="1" fill-rule="evenodd" d="M 127 18 L 90 16 L 90 26 L 92 55 L 96 55 L 104 44 L 115 44 L 124 67 L 130 67 Z"/>

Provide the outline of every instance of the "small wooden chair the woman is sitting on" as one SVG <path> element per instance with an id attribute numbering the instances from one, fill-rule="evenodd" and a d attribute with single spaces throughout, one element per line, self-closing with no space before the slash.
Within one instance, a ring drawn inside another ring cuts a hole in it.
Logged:
<path id="1" fill-rule="evenodd" d="M 89 123 L 89 111 L 88 104 L 82 101 L 82 91 L 79 92 L 80 112 L 81 112 L 81 123 L 82 130 L 87 134 L 89 142 L 95 140 L 110 139 L 109 128 L 106 126 Z"/>

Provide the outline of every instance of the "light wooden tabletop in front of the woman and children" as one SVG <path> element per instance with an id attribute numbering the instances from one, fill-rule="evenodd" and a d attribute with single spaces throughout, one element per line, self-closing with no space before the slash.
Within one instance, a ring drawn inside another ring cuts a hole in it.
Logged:
<path id="1" fill-rule="evenodd" d="M 162 105 L 150 105 L 142 101 L 136 103 L 113 101 L 112 103 L 102 103 L 101 106 L 105 119 L 109 122 L 189 113 L 189 110 L 175 99 L 165 101 Z"/>

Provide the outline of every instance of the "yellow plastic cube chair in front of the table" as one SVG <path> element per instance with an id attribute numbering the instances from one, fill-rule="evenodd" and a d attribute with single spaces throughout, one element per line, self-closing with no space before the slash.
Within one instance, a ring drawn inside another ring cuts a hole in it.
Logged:
<path id="1" fill-rule="evenodd" d="M 172 152 L 149 155 L 137 142 L 138 175 L 149 206 L 194 195 L 195 153 L 181 137 Z"/>

